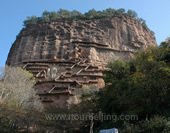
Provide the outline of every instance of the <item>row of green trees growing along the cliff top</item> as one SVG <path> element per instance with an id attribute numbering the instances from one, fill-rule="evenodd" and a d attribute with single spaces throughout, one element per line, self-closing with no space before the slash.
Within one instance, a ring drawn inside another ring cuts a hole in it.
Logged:
<path id="1" fill-rule="evenodd" d="M 76 10 L 68 11 L 63 9 L 60 9 L 58 12 L 44 11 L 41 17 L 37 17 L 37 16 L 27 17 L 27 19 L 24 21 L 24 26 L 28 26 L 30 24 L 37 24 L 39 22 L 56 21 L 58 19 L 91 20 L 91 19 L 111 17 L 114 15 L 127 15 L 129 17 L 137 19 L 142 25 L 147 27 L 145 20 L 142 18 L 138 18 L 138 15 L 135 11 L 128 10 L 126 12 L 126 10 L 123 8 L 120 8 L 118 10 L 108 8 L 103 11 L 96 11 L 95 9 L 91 9 L 84 14 Z"/>

